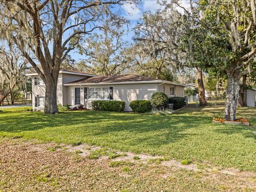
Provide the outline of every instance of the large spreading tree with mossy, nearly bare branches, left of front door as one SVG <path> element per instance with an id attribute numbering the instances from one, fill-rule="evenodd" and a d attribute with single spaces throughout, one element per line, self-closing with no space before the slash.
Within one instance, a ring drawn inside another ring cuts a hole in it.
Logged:
<path id="1" fill-rule="evenodd" d="M 75 49 L 79 39 L 102 28 L 102 21 L 116 22 L 112 20 L 116 13 L 112 8 L 123 2 L 129 1 L 0 1 L 1 38 L 15 43 L 43 79 L 45 113 L 58 113 L 57 81 L 61 62 Z"/>

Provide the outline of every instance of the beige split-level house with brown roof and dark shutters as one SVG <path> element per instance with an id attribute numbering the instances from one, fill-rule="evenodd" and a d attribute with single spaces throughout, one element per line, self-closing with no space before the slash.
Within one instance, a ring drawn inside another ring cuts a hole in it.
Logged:
<path id="1" fill-rule="evenodd" d="M 38 74 L 32 78 L 33 108 L 44 108 L 45 85 Z M 60 70 L 57 85 L 57 103 L 70 106 L 85 105 L 91 108 L 93 100 L 125 101 L 125 111 L 131 111 L 133 100 L 150 100 L 157 91 L 168 97 L 184 97 L 186 85 L 140 75 L 98 76 L 73 70 Z"/>

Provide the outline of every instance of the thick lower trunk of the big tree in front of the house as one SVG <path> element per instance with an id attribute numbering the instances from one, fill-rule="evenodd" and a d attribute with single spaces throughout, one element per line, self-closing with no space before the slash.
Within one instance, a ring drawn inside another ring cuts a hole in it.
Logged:
<path id="1" fill-rule="evenodd" d="M 44 113 L 45 114 L 57 114 L 58 106 L 57 106 L 57 79 L 54 81 L 53 77 L 45 76 L 45 106 Z"/>

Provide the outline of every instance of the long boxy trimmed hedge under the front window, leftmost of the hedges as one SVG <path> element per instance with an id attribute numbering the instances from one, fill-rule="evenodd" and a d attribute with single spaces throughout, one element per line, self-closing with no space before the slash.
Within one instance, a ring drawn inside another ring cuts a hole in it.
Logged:
<path id="1" fill-rule="evenodd" d="M 124 108 L 124 101 L 92 101 L 93 110 L 123 111 Z"/>

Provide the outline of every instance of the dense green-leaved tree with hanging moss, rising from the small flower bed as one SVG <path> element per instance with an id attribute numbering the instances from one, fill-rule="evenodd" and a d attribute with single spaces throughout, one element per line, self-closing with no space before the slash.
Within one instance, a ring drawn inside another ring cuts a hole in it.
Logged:
<path id="1" fill-rule="evenodd" d="M 225 119 L 235 120 L 239 81 L 255 70 L 255 0 L 190 0 L 190 10 L 173 2 L 185 11 L 185 38 L 198 66 L 227 74 Z"/>

